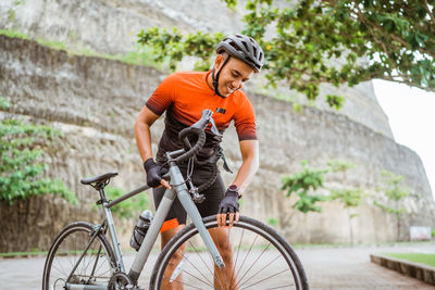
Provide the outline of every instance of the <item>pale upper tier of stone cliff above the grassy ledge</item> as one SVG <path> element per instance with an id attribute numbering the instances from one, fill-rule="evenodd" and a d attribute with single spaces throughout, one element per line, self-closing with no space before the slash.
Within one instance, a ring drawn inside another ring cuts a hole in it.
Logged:
<path id="1" fill-rule="evenodd" d="M 244 27 L 244 2 L 239 1 L 237 9 L 231 10 L 221 0 L 208 0 L 207 4 L 200 0 L 33 0 L 22 1 L 21 4 L 3 0 L 0 2 L 0 28 L 17 29 L 30 38 L 61 41 L 71 50 L 126 53 L 136 50 L 136 34 L 152 26 L 176 26 L 183 33 L 240 33 Z M 295 1 L 276 2 L 282 2 L 282 7 L 295 4 Z M 11 11 L 13 20 L 8 13 Z M 191 68 L 190 63 L 182 66 Z M 262 83 L 264 79 L 253 80 L 247 89 L 261 91 Z M 278 90 L 268 89 L 269 96 L 278 93 L 306 102 L 304 96 L 289 91 L 286 84 Z M 318 109 L 332 111 L 324 101 L 324 96 L 328 93 L 346 96 L 339 114 L 393 138 L 388 119 L 377 103 L 370 81 L 353 88 L 322 86 L 321 96 L 314 104 Z"/>

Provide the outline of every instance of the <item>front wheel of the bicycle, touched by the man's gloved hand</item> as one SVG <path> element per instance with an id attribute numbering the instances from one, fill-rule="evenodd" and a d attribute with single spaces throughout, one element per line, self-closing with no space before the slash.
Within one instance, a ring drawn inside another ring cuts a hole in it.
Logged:
<path id="1" fill-rule="evenodd" d="M 159 255 L 150 289 L 309 289 L 295 251 L 271 227 L 246 216 L 231 228 L 219 228 L 216 216 L 202 220 L 225 268 L 214 265 L 197 228 L 190 224 Z"/>

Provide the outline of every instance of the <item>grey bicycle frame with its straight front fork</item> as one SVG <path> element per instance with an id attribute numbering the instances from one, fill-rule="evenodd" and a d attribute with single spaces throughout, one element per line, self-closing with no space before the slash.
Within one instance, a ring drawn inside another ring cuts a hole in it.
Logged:
<path id="1" fill-rule="evenodd" d="M 185 179 L 184 179 L 182 173 L 179 172 L 178 166 L 176 165 L 176 163 L 174 161 L 171 161 L 171 160 L 173 160 L 172 159 L 173 155 L 177 155 L 177 154 L 181 154 L 184 152 L 185 152 L 184 150 L 177 150 L 174 152 L 166 153 L 167 160 L 170 160 L 169 175 L 171 177 L 172 189 L 166 189 L 166 191 L 164 192 L 163 199 L 160 202 L 159 207 L 156 211 L 156 215 L 152 218 L 152 222 L 150 224 L 150 227 L 148 228 L 147 235 L 145 236 L 145 239 L 144 239 L 144 241 L 139 248 L 139 251 L 135 256 L 133 265 L 129 269 L 128 276 L 129 276 L 133 285 L 137 285 L 137 280 L 140 276 L 140 273 L 144 269 L 144 266 L 145 266 L 145 264 L 148 260 L 148 256 L 151 252 L 151 249 L 152 249 L 152 247 L 158 238 L 158 235 L 160 232 L 160 228 L 162 227 L 162 225 L 164 223 L 164 218 L 166 217 L 166 215 L 171 209 L 171 205 L 175 200 L 175 197 L 178 198 L 178 200 L 181 201 L 186 213 L 188 214 L 191 222 L 198 229 L 202 240 L 204 241 L 210 254 L 212 255 L 212 257 L 214 260 L 214 263 L 220 268 L 225 267 L 223 259 L 222 259 L 221 254 L 219 253 L 217 248 L 214 244 L 204 224 L 202 223 L 202 217 L 199 214 L 198 209 L 196 207 L 194 201 L 191 200 L 191 197 L 188 192 Z M 114 254 L 115 254 L 115 259 L 116 259 L 116 266 L 123 273 L 125 273 L 125 266 L 124 266 L 124 262 L 122 259 L 120 243 L 117 240 L 117 236 L 116 236 L 116 231 L 115 231 L 113 217 L 112 217 L 110 207 L 112 207 L 113 205 L 115 205 L 126 199 L 129 199 L 147 189 L 149 189 L 148 186 L 141 186 L 112 202 L 109 202 L 105 199 L 102 201 L 105 220 L 107 220 L 110 237 L 112 239 L 112 245 L 113 245 Z M 101 189 L 100 193 L 102 194 L 102 197 L 104 197 L 103 189 Z M 86 251 L 85 251 L 85 253 L 86 253 Z M 70 285 L 70 283 L 67 286 L 69 286 L 69 289 L 101 289 L 101 290 L 107 289 L 107 286 L 83 286 L 83 285 L 74 286 L 74 285 Z"/>

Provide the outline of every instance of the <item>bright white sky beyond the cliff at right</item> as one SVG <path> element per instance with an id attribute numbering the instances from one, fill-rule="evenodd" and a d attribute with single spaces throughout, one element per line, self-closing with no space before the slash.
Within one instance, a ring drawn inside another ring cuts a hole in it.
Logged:
<path id="1" fill-rule="evenodd" d="M 435 198 L 435 92 L 381 79 L 373 86 L 396 142 L 419 154 Z"/>

